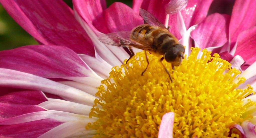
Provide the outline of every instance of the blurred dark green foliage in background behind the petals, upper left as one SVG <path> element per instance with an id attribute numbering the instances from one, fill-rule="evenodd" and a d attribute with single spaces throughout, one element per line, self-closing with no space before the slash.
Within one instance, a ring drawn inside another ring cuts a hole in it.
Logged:
<path id="1" fill-rule="evenodd" d="M 122 2 L 132 6 L 132 0 L 106 0 L 107 6 L 114 2 Z M 71 0 L 64 0 L 72 7 Z M 0 50 L 13 49 L 25 45 L 38 44 L 32 36 L 24 31 L 0 5 Z"/>

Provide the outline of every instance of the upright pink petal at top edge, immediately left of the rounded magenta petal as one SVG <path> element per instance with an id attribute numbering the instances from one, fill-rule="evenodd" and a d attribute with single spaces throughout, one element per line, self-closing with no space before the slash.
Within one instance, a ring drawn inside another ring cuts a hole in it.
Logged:
<path id="1" fill-rule="evenodd" d="M 94 33 L 98 31 L 109 33 L 106 27 L 103 10 L 106 8 L 106 2 L 102 0 L 72 0 L 73 8 L 91 27 Z"/>

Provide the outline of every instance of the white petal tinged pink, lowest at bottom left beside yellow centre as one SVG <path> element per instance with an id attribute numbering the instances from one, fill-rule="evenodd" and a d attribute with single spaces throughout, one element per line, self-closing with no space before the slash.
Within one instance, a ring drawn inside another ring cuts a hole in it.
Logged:
<path id="1" fill-rule="evenodd" d="M 85 131 L 85 126 L 87 123 L 88 122 L 69 121 L 51 129 L 38 138 L 55 137 L 56 135 L 58 135 L 58 137 L 68 137 L 72 134 Z"/>

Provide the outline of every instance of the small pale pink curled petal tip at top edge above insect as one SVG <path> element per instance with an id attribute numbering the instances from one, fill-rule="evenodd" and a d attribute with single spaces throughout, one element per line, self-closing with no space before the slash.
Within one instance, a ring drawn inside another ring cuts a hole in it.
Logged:
<path id="1" fill-rule="evenodd" d="M 188 0 L 170 0 L 165 9 L 166 14 L 175 14 L 184 9 L 188 4 Z"/>

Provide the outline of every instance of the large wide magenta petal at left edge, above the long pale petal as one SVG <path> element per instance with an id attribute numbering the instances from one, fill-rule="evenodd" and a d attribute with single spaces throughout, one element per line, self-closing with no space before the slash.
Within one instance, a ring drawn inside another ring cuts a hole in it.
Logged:
<path id="1" fill-rule="evenodd" d="M 53 45 L 31 45 L 0 51 L 0 68 L 44 78 L 84 77 L 91 73 L 71 49 Z"/>

